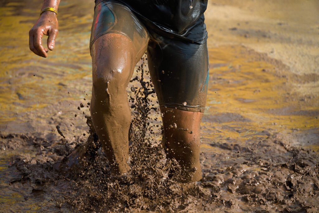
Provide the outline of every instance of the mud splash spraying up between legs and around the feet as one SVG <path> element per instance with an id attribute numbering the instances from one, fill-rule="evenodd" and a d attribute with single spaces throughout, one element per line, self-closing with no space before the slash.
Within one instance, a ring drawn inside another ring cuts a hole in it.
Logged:
<path id="1" fill-rule="evenodd" d="M 139 86 L 131 87 L 134 96 L 130 97 L 130 102 L 134 111 L 129 134 L 130 172 L 121 177 L 111 175 L 91 118 L 86 116 L 91 135 L 87 141 L 89 145 L 86 153 L 80 158 L 81 168 L 73 170 L 73 174 L 66 173 L 73 180 L 72 188 L 76 189 L 76 193 L 64 195 L 64 200 L 76 210 L 176 211 L 187 209 L 190 202 L 197 201 L 199 195 L 204 194 L 199 185 L 197 190 L 193 187 L 190 196 L 188 185 L 176 181 L 181 172 L 178 163 L 174 159 L 167 160 L 165 147 L 159 140 L 154 140 L 155 132 L 159 133 L 161 127 L 152 125 L 149 115 L 151 111 L 158 113 L 159 109 L 152 104 L 151 95 L 155 93 L 153 85 L 151 81 L 144 79 L 145 73 L 149 74 L 144 70 L 144 61 L 145 58 L 136 70 L 140 76 L 131 80 L 137 81 Z"/>

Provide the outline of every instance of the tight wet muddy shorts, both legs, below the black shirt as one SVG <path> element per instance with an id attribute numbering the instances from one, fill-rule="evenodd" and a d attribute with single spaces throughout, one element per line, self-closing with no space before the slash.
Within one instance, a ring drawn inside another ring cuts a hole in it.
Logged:
<path id="1" fill-rule="evenodd" d="M 160 107 L 204 112 L 208 84 L 207 42 L 163 36 L 122 3 L 100 1 L 94 8 L 90 48 L 106 33 L 129 38 L 137 57 L 147 48 L 148 67 Z"/>

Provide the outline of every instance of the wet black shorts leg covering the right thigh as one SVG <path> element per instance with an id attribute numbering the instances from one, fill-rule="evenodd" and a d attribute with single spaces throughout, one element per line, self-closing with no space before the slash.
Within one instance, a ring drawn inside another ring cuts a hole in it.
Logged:
<path id="1" fill-rule="evenodd" d="M 207 43 L 162 39 L 149 46 L 148 64 L 160 107 L 204 112 L 208 84 Z"/>

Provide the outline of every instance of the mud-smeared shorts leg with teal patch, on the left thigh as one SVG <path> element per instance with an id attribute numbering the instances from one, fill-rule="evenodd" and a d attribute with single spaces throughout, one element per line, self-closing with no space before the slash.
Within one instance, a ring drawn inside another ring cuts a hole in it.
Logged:
<path id="1" fill-rule="evenodd" d="M 145 26 L 127 6 L 106 0 L 100 1 L 94 7 L 90 38 L 91 55 L 93 48 L 100 48 L 94 45 L 95 41 L 108 33 L 121 34 L 130 40 L 135 48 L 134 53 L 130 52 L 135 55 L 135 62 L 145 53 L 149 40 Z"/>

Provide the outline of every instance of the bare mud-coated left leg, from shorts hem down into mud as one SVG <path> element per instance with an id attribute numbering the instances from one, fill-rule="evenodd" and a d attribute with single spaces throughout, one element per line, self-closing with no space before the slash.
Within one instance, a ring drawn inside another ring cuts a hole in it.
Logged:
<path id="1" fill-rule="evenodd" d="M 91 115 L 112 173 L 127 173 L 131 112 L 126 87 L 136 64 L 132 42 L 121 34 L 108 33 L 92 48 Z"/>

